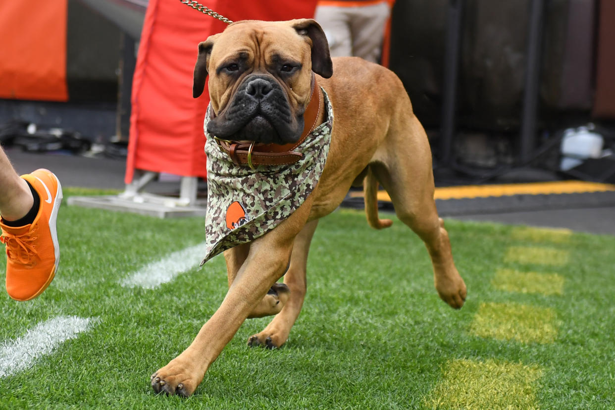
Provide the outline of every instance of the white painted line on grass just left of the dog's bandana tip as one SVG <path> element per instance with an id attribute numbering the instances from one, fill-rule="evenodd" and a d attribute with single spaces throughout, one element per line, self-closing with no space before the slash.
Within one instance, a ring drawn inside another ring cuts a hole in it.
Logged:
<path id="1" fill-rule="evenodd" d="M 205 243 L 199 243 L 173 252 L 166 258 L 143 267 L 120 283 L 128 288 L 155 289 L 163 283 L 171 282 L 177 275 L 199 266 L 204 251 Z"/>

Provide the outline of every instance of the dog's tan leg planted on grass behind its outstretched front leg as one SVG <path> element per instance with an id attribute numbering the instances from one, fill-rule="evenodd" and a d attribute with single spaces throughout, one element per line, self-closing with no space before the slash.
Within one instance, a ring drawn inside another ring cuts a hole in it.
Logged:
<path id="1" fill-rule="evenodd" d="M 288 339 L 290 329 L 301 312 L 307 290 L 306 269 L 308 267 L 309 245 L 314 236 L 318 219 L 309 222 L 295 237 L 290 266 L 284 275 L 284 284 L 290 290 L 290 298 L 284 309 L 273 318 L 261 333 L 248 338 L 248 346 L 263 345 L 268 349 L 280 347 Z"/>

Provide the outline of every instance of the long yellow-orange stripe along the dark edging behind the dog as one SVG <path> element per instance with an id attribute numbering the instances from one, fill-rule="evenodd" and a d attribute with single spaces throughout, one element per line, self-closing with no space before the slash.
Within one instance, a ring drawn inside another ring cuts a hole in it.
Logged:
<path id="1" fill-rule="evenodd" d="M 503 197 L 507 195 L 578 194 L 583 192 L 615 191 L 613 184 L 586 181 L 555 181 L 529 184 L 468 185 L 438 187 L 434 199 L 464 199 Z M 362 197 L 363 192 L 353 191 L 351 197 Z M 391 201 L 385 191 L 378 192 L 378 200 Z"/>

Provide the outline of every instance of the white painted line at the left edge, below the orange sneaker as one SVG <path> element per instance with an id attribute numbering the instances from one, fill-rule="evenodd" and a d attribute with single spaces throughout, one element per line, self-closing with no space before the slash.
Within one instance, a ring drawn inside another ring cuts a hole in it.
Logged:
<path id="1" fill-rule="evenodd" d="M 55 317 L 39 323 L 14 341 L 2 343 L 0 377 L 10 376 L 29 368 L 36 359 L 49 355 L 55 347 L 87 331 L 96 322 L 96 318 Z"/>

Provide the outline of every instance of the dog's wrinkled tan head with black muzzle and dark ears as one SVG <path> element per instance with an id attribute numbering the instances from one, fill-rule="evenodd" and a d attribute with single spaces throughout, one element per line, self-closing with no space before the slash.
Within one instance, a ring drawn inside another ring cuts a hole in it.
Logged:
<path id="1" fill-rule="evenodd" d="M 232 23 L 199 44 L 192 96 L 209 76 L 215 116 L 207 132 L 223 140 L 286 144 L 303 131 L 312 71 L 333 74 L 327 38 L 314 20 Z"/>

